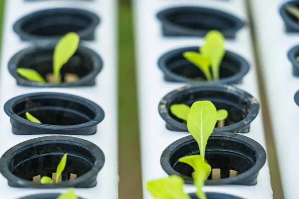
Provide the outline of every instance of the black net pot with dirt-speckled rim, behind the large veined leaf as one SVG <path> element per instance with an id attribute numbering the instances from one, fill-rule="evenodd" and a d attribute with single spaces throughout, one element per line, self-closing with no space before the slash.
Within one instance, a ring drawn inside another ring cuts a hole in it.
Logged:
<path id="1" fill-rule="evenodd" d="M 186 121 L 177 118 L 170 111 L 173 104 L 186 104 L 191 107 L 195 101 L 209 100 L 217 110 L 226 109 L 228 117 L 223 127 L 214 131 L 248 133 L 250 124 L 259 113 L 259 102 L 245 91 L 230 85 L 204 85 L 179 88 L 160 100 L 158 111 L 171 131 L 188 131 Z"/>

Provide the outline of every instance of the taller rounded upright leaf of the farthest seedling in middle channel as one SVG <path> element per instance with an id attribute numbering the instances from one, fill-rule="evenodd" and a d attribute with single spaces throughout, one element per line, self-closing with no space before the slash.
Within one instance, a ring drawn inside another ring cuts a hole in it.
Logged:
<path id="1" fill-rule="evenodd" d="M 220 64 L 225 54 L 225 38 L 217 30 L 209 31 L 205 36 L 205 44 L 200 48 L 201 55 L 211 59 L 214 80 L 219 80 Z"/>

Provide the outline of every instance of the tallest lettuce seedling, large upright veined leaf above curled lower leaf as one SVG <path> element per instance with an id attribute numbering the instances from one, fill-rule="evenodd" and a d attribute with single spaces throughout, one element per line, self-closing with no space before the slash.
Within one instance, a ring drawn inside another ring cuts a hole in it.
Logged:
<path id="1" fill-rule="evenodd" d="M 200 199 L 206 199 L 202 187 L 212 168 L 205 160 L 205 148 L 216 122 L 217 110 L 211 101 L 196 101 L 192 104 L 187 117 L 187 127 L 198 144 L 200 155 L 182 157 L 179 162 L 188 164 L 194 169 L 194 184 L 197 187 L 196 196 Z"/>

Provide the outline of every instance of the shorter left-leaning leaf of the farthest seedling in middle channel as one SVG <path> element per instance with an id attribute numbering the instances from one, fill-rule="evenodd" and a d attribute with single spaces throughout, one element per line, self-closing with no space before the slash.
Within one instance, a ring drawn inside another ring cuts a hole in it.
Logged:
<path id="1" fill-rule="evenodd" d="M 208 81 L 212 81 L 210 71 L 211 59 L 200 55 L 197 52 L 184 52 L 183 57 L 189 62 L 197 66 L 204 74 Z"/>

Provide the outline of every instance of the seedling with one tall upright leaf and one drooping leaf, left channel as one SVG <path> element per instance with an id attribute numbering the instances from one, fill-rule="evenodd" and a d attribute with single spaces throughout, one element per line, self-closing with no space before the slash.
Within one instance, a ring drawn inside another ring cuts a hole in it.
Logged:
<path id="1" fill-rule="evenodd" d="M 53 53 L 53 77 L 54 83 L 60 83 L 60 70 L 64 64 L 75 54 L 80 37 L 75 32 L 69 32 L 64 35 L 56 44 L 54 53 Z M 42 78 L 38 72 L 27 69 L 27 68 L 18 68 L 16 71 L 20 76 L 35 82 L 45 83 L 46 81 Z"/>

